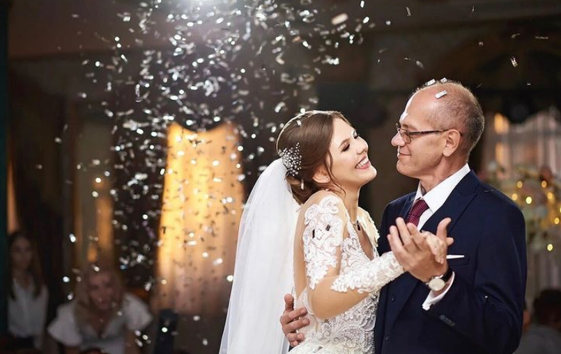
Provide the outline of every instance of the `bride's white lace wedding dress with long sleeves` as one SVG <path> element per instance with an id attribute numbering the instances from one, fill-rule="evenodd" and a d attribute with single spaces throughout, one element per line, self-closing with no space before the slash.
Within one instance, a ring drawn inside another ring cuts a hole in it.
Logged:
<path id="1" fill-rule="evenodd" d="M 344 209 L 342 201 L 335 195 L 326 195 L 305 211 L 302 243 L 307 287 L 298 296 L 295 307 L 307 309 L 310 324 L 300 330 L 305 341 L 290 354 L 374 353 L 378 294 L 385 284 L 404 273 L 392 252 L 382 256 L 376 252 L 378 231 L 370 216 L 361 210 L 362 227 L 367 230 L 374 248 L 373 259 L 364 253 L 348 212 L 344 210 L 344 220 L 339 208 Z M 337 267 L 339 275 L 330 287 L 332 291 L 367 292 L 369 296 L 344 313 L 320 319 L 310 306 L 309 291 L 328 274 L 328 269 Z"/>

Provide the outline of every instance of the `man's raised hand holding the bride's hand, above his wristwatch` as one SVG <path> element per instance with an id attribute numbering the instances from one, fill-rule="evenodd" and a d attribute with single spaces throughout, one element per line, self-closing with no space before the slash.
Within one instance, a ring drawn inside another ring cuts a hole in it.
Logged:
<path id="1" fill-rule="evenodd" d="M 447 246 L 452 243 L 452 239 L 447 238 L 446 230 L 451 221 L 450 218 L 445 218 L 438 224 L 436 236 L 440 240 L 440 252 L 438 252 L 440 254 L 442 252 L 445 254 Z M 414 224 L 406 225 L 403 218 L 397 218 L 396 225 L 397 227 L 393 225 L 390 227 L 387 240 L 397 261 L 406 271 L 422 282 L 428 282 L 431 277 L 446 273 L 448 263 L 445 257 L 442 259 L 433 254 L 426 235 Z"/>

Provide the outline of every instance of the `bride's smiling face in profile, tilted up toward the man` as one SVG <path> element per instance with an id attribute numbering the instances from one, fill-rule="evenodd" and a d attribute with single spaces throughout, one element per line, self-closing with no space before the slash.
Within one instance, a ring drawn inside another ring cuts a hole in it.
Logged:
<path id="1" fill-rule="evenodd" d="M 332 175 L 345 191 L 360 188 L 376 177 L 376 168 L 368 159 L 368 144 L 343 120 L 333 121 L 329 151 Z"/>

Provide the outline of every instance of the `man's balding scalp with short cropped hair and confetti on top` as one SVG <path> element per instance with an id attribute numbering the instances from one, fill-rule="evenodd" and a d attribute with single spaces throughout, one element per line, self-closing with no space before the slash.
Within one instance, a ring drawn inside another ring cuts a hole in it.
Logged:
<path id="1" fill-rule="evenodd" d="M 446 94 L 443 95 L 443 91 Z M 417 88 L 413 95 L 431 95 L 436 100 L 429 117 L 438 129 L 458 129 L 462 134 L 459 149 L 469 155 L 483 134 L 485 117 L 472 92 L 458 81 L 447 80 Z M 440 98 L 436 98 L 441 95 Z"/>

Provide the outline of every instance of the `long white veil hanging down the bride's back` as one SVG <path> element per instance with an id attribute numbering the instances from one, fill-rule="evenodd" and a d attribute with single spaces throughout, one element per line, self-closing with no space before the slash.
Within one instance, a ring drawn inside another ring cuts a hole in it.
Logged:
<path id="1" fill-rule="evenodd" d="M 300 206 L 281 159 L 261 174 L 245 204 L 220 354 L 281 354 L 279 318 L 293 289 L 293 239 Z"/>

